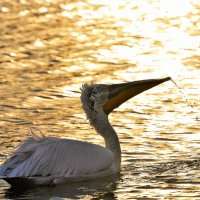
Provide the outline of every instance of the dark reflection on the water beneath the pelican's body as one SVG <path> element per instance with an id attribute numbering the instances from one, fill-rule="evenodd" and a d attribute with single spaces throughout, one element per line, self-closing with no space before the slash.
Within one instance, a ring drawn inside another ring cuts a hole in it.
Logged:
<path id="1" fill-rule="evenodd" d="M 91 196 L 95 199 L 113 198 L 117 187 L 119 175 L 114 177 L 101 178 L 100 180 L 87 181 L 84 183 L 72 183 L 57 187 L 42 187 L 30 190 L 7 189 L 5 196 L 8 199 L 50 199 L 53 197 L 68 199 L 84 199 Z"/>

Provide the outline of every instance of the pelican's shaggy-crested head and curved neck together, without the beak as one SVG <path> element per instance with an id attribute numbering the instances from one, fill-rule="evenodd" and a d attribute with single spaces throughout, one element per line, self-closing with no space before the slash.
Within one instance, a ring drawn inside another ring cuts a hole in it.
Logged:
<path id="1" fill-rule="evenodd" d="M 95 85 L 85 84 L 82 87 L 82 108 L 89 119 L 90 125 L 104 138 L 106 148 L 112 151 L 118 170 L 121 165 L 121 148 L 117 133 L 110 125 L 108 115 L 103 110 L 103 105 L 108 100 L 109 91 L 98 91 Z"/>

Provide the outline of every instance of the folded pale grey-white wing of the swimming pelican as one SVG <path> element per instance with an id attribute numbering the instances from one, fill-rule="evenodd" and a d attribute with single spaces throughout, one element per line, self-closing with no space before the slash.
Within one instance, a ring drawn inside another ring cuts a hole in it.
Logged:
<path id="1" fill-rule="evenodd" d="M 114 162 L 110 150 L 76 140 L 28 138 L 1 166 L 4 177 L 76 177 L 98 173 Z"/>

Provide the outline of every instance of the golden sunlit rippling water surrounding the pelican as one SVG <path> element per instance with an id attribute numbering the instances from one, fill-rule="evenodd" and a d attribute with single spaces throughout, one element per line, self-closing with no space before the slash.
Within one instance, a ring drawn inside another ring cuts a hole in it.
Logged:
<path id="1" fill-rule="evenodd" d="M 198 0 L 5 0 L 0 21 L 0 163 L 30 126 L 104 145 L 81 109 L 84 82 L 171 76 L 185 95 L 166 82 L 113 112 L 119 176 L 29 191 L 2 183 L 0 199 L 200 198 Z"/>

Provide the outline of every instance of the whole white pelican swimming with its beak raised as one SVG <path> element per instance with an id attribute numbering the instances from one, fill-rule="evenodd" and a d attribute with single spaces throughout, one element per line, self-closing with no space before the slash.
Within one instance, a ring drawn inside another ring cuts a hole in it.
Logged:
<path id="1" fill-rule="evenodd" d="M 121 84 L 84 84 L 82 108 L 105 147 L 84 141 L 46 137 L 31 129 L 28 137 L 2 164 L 0 178 L 11 186 L 59 185 L 114 175 L 120 171 L 121 148 L 108 115 L 130 98 L 170 77 Z"/>

